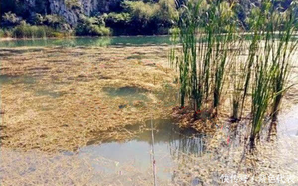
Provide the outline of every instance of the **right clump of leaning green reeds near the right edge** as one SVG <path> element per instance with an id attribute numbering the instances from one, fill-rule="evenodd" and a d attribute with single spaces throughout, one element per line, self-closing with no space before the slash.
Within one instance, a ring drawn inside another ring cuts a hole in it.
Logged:
<path id="1" fill-rule="evenodd" d="M 268 122 L 266 112 L 269 111 L 270 105 L 273 105 L 271 110 L 273 121 L 277 119 L 278 107 L 283 93 L 287 90 L 285 86 L 293 67 L 290 56 L 297 48 L 297 42 L 291 42 L 296 29 L 292 9 L 281 13 L 273 4 L 272 1 L 264 2 L 258 15 L 263 20 L 259 37 L 262 46 L 258 47 L 257 61 L 254 65 L 251 148 L 254 147 L 255 138 L 260 137 L 261 128 Z"/>

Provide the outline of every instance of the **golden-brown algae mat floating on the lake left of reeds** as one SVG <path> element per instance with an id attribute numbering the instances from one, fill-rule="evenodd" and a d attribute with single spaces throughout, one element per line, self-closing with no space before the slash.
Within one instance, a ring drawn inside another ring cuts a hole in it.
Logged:
<path id="1" fill-rule="evenodd" d="M 169 115 L 156 96 L 176 87 L 174 72 L 165 67 L 167 47 L 0 51 L 2 147 L 75 151 L 94 138 L 129 138 L 133 134 L 116 129 L 149 119 L 150 113 Z M 128 94 L 111 95 L 109 89 Z M 134 95 L 128 99 L 129 94 Z"/>

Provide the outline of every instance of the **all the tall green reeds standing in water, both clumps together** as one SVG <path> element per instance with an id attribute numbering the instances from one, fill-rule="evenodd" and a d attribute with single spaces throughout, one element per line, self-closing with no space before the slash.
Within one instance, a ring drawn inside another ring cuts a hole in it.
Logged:
<path id="1" fill-rule="evenodd" d="M 276 121 L 282 96 L 290 86 L 291 56 L 297 49 L 297 40 L 291 40 L 297 31 L 297 6 L 293 2 L 281 12 L 274 1 L 262 2 L 247 19 L 250 33 L 243 29 L 234 7 L 233 2 L 222 0 L 208 5 L 204 0 L 189 0 L 182 5 L 173 36 L 180 39 L 182 48 L 171 49 L 170 62 L 180 72 L 180 106 L 191 107 L 195 120 L 201 109 L 213 110 L 211 117 L 216 117 L 225 102 L 223 90 L 230 85 L 231 121 L 244 119 L 246 99 L 251 100 L 249 139 L 253 149 L 261 129 L 269 120 Z M 270 130 L 276 131 L 272 125 Z"/>

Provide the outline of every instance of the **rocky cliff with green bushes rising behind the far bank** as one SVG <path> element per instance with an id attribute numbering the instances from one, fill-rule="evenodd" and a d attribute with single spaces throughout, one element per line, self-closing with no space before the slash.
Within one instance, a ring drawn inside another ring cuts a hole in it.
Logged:
<path id="1" fill-rule="evenodd" d="M 185 1 L 1 0 L 0 25 L 6 29 L 6 32 L 7 28 L 16 27 L 23 20 L 32 26 L 44 25 L 57 32 L 77 35 L 101 36 L 111 34 L 111 32 L 113 35 L 168 34 L 173 26 L 172 19 L 177 16 L 177 12 Z M 274 6 L 284 11 L 292 1 L 274 0 Z M 214 3 L 213 0 L 206 2 L 206 6 Z M 248 19 L 251 17 L 251 10 L 255 6 L 260 6 L 260 0 L 234 0 L 232 2 L 235 4 L 233 11 L 243 29 L 249 28 Z M 103 22 L 94 22 L 95 19 Z"/>

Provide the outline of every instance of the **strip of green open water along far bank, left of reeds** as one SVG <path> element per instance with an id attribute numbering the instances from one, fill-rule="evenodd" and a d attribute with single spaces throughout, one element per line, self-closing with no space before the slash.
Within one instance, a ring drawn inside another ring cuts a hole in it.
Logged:
<path id="1" fill-rule="evenodd" d="M 63 39 L 17 39 L 0 41 L 0 48 L 44 47 L 44 46 L 138 46 L 170 44 L 170 36 L 118 36 L 118 37 L 76 37 Z"/>

